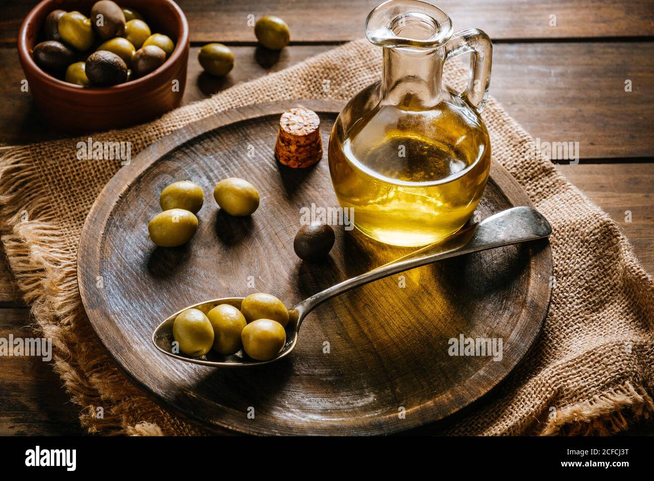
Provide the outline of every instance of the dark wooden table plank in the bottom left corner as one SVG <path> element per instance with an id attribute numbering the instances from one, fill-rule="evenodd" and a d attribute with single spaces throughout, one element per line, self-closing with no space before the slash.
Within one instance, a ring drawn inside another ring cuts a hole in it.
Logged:
<path id="1" fill-rule="evenodd" d="M 27 308 L 0 309 L 0 338 L 38 337 Z M 41 357 L 2 358 L 0 436 L 80 435 L 78 406 L 70 401 L 51 363 Z"/>

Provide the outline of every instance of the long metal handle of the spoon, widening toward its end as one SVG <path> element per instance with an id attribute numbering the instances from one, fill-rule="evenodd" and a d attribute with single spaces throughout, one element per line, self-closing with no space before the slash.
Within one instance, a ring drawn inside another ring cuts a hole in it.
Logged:
<path id="1" fill-rule="evenodd" d="M 532 207 L 506 209 L 490 216 L 479 224 L 460 230 L 444 240 L 422 247 L 422 249 L 411 254 L 388 262 L 388 264 L 328 287 L 324 291 L 300 302 L 296 309 L 300 314 L 300 319 L 303 319 L 305 315 L 322 302 L 377 279 L 424 266 L 444 258 L 540 239 L 549 236 L 551 232 L 552 228 L 547 219 L 536 209 L 532 209 Z"/>

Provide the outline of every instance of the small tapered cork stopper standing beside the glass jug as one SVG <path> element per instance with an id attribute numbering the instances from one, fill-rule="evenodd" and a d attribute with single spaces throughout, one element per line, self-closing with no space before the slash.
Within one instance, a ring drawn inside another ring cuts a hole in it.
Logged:
<path id="1" fill-rule="evenodd" d="M 309 109 L 290 109 L 279 119 L 275 158 L 284 166 L 313 166 L 322 158 L 320 117 Z"/>

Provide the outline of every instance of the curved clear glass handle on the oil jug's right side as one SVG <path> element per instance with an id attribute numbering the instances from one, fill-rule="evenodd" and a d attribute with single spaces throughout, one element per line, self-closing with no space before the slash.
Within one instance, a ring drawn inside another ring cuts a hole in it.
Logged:
<path id="1" fill-rule="evenodd" d="M 490 37 L 476 28 L 460 30 L 445 44 L 445 60 L 472 52 L 468 88 L 461 98 L 480 113 L 489 97 L 492 43 Z"/>

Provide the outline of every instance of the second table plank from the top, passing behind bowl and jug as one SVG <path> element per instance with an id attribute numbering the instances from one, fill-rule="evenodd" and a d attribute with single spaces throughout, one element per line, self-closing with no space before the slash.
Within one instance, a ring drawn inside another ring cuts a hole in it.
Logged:
<path id="1" fill-rule="evenodd" d="M 207 98 L 329 50 L 291 46 L 274 56 L 236 46 L 235 67 L 225 79 L 203 74 L 192 48 L 184 103 Z M 59 134 L 39 121 L 16 50 L 0 48 L 7 88 L 0 111 L 0 144 L 32 143 Z M 625 80 L 632 92 L 625 92 Z M 654 43 L 522 43 L 494 46 L 490 92 L 534 137 L 579 142 L 581 158 L 645 157 L 654 151 Z"/>

